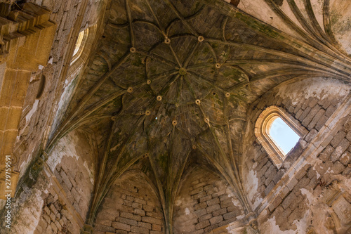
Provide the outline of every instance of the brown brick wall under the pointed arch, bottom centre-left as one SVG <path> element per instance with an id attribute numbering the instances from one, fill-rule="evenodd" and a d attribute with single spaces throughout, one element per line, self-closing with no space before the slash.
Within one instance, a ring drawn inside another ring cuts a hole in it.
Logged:
<path id="1" fill-rule="evenodd" d="M 104 198 L 95 219 L 96 234 L 161 234 L 164 215 L 157 195 L 140 174 L 124 174 Z"/>

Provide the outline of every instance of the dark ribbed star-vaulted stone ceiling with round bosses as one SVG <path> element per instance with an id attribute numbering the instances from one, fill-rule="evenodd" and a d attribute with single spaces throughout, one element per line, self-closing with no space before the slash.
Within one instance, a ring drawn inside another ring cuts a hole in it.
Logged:
<path id="1" fill-rule="evenodd" d="M 249 105 L 288 79 L 348 82 L 351 74 L 350 57 L 331 30 L 328 0 L 318 14 L 310 0 L 288 0 L 284 8 L 263 2 L 286 32 L 221 0 L 111 1 L 103 34 L 47 147 L 77 128 L 98 136 L 90 219 L 113 181 L 138 168 L 157 188 L 171 223 L 178 185 L 196 164 L 223 176 L 250 212 L 238 169 Z"/>

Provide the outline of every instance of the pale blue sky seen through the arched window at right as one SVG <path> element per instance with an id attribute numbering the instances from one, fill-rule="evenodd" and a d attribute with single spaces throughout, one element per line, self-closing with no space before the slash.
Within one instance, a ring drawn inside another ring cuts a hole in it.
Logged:
<path id="1" fill-rule="evenodd" d="M 298 143 L 300 136 L 286 124 L 283 119 L 277 118 L 270 127 L 270 136 L 279 145 L 286 155 Z"/>

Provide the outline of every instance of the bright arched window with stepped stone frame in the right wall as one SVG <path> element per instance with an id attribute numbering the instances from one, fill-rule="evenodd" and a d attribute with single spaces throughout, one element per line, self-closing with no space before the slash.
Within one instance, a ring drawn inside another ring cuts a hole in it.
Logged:
<path id="1" fill-rule="evenodd" d="M 263 110 L 256 121 L 255 135 L 279 168 L 307 130 L 277 106 Z"/>

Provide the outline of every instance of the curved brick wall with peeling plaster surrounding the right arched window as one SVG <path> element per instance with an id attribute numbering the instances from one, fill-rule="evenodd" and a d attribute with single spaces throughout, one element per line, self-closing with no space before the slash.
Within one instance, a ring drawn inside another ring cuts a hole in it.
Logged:
<path id="1" fill-rule="evenodd" d="M 262 145 L 255 145 L 256 137 L 253 134 L 253 127 L 256 124 L 256 118 L 265 107 L 282 103 L 282 105 L 278 106 L 283 108 L 286 112 L 288 112 L 289 115 L 291 115 L 291 117 L 296 118 L 296 120 L 300 124 L 302 124 L 302 126 L 304 126 L 307 130 L 310 130 L 310 132 L 305 136 L 305 141 L 312 141 L 313 138 L 317 136 L 318 131 L 320 129 L 308 129 L 310 121 L 314 119 L 314 116 L 317 115 L 317 112 L 319 110 L 322 110 L 324 106 L 328 108 L 333 106 L 333 104 L 326 103 L 333 103 L 333 100 L 335 100 L 335 98 L 342 99 L 343 96 L 345 96 L 345 94 L 347 93 L 347 88 L 345 90 L 343 85 L 338 82 L 330 82 L 329 85 L 334 86 L 335 90 L 329 90 L 328 85 L 324 86 L 324 88 L 323 86 L 317 86 L 318 82 L 324 81 L 317 81 L 317 79 L 315 81 L 316 84 L 307 82 L 296 82 L 295 84 L 291 84 L 289 89 L 287 89 L 286 86 L 277 87 L 276 89 L 270 91 L 265 96 L 263 96 L 260 99 L 260 101 L 258 101 L 256 104 L 254 104 L 254 108 L 250 113 L 251 122 L 247 130 L 248 132 L 246 133 L 246 142 L 249 142 L 251 145 L 246 145 L 246 155 L 250 155 L 250 160 L 249 158 L 246 160 L 245 167 L 247 168 L 246 174 L 249 174 L 250 176 L 244 176 L 244 178 L 247 178 L 246 184 L 248 186 L 246 187 L 246 189 L 248 191 L 249 199 L 251 199 L 251 202 L 253 202 L 253 207 L 257 207 L 258 204 L 260 204 L 260 201 L 263 200 L 263 198 L 266 195 L 268 195 L 268 193 L 270 193 L 272 188 L 274 188 L 274 186 L 279 182 L 279 179 L 282 178 L 286 169 L 289 169 L 291 164 L 293 164 L 293 162 L 300 156 L 301 152 L 303 152 L 304 147 L 302 144 L 298 143 L 296 147 L 293 148 L 293 150 L 291 150 L 291 152 L 289 152 L 288 155 L 286 155 L 286 160 L 284 160 L 282 167 L 280 167 L 280 169 L 277 169 L 277 167 L 274 166 L 270 157 L 268 157 Z M 303 89 L 301 89 L 301 87 L 303 87 Z M 340 92 L 338 90 L 345 91 Z M 324 93 L 322 99 L 317 99 L 317 91 Z M 316 94 L 313 94 L 313 92 Z M 292 110 L 291 106 L 294 107 L 293 112 L 290 112 Z M 312 108 L 314 108 L 313 112 Z M 301 115 L 298 115 L 299 110 L 302 110 Z M 336 108 L 333 108 L 333 110 L 336 110 Z M 330 117 L 333 114 L 333 112 L 328 111 L 328 113 L 326 114 L 328 115 L 328 117 Z M 308 119 L 305 120 L 306 118 Z M 327 118 L 319 118 L 318 121 L 321 122 L 321 124 L 323 125 L 326 122 L 326 120 Z M 338 133 L 336 137 L 340 138 L 341 136 L 345 136 L 345 133 Z M 336 155 L 336 152 L 334 152 L 335 156 L 333 157 L 335 158 L 340 157 L 340 154 L 344 152 L 343 150 L 345 150 L 345 147 L 347 145 L 345 141 L 343 141 L 344 143 L 340 142 L 341 138 L 338 140 L 334 138 L 332 142 L 336 141 L 338 141 L 338 144 L 340 143 L 340 146 L 338 150 L 338 155 Z M 322 151 L 319 157 L 322 157 L 322 160 L 329 159 L 331 153 L 334 151 L 333 149 L 333 146 L 327 146 L 326 149 Z M 255 189 L 257 190 L 257 193 L 254 192 Z"/>

